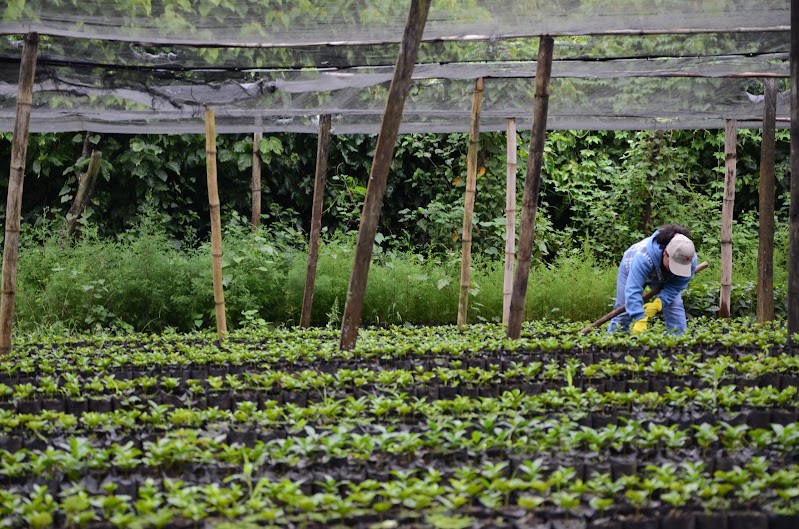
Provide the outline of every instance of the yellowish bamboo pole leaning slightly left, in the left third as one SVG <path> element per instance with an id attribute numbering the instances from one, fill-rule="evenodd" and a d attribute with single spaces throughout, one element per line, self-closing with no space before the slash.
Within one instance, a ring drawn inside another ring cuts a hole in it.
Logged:
<path id="1" fill-rule="evenodd" d="M 211 261 L 214 270 L 214 308 L 216 335 L 225 339 L 225 292 L 222 289 L 222 220 L 219 214 L 219 189 L 216 184 L 216 120 L 214 111 L 205 111 L 205 166 L 208 174 L 208 205 L 211 210 Z"/>

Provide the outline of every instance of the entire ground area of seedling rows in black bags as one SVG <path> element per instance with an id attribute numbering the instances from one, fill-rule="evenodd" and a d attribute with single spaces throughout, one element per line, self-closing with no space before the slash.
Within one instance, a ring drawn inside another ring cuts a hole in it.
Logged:
<path id="1" fill-rule="evenodd" d="M 796 526 L 784 327 L 579 329 L 19 336 L 0 526 Z"/>

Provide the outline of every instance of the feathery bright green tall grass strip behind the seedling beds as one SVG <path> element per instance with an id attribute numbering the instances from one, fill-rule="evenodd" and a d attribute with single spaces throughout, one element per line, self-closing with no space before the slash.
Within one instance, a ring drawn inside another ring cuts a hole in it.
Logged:
<path id="1" fill-rule="evenodd" d="M 214 325 L 210 249 L 179 248 L 157 224 L 143 222 L 117 239 L 91 233 L 67 244 L 59 230 L 28 234 L 20 253 L 16 322 L 22 328 L 189 331 Z M 307 266 L 299 233 L 251 234 L 245 227 L 224 237 L 223 277 L 231 327 L 255 320 L 299 321 Z M 352 271 L 354 236 L 328 239 L 320 251 L 312 323 L 338 325 Z M 781 259 L 782 257 L 780 257 Z M 590 250 L 575 251 L 531 269 L 526 319 L 594 320 L 612 309 L 615 263 L 600 263 Z M 430 257 L 375 247 L 362 313 L 364 325 L 454 323 L 460 257 Z M 751 308 L 748 258 L 736 260 L 734 281 Z M 718 296 L 718 266 L 691 282 L 686 303 L 707 313 Z M 784 281 L 780 272 L 778 281 Z M 500 321 L 503 267 L 479 256 L 472 272 L 469 318 Z M 748 289 L 747 289 L 748 288 Z M 693 292 L 691 291 L 693 289 Z M 776 290 L 779 291 L 779 288 Z M 736 292 L 734 291 L 734 296 Z M 735 302 L 735 300 L 734 300 Z"/>

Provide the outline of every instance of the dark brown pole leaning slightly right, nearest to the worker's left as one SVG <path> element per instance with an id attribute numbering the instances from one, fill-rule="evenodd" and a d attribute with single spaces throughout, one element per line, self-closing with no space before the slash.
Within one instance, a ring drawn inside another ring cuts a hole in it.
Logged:
<path id="1" fill-rule="evenodd" d="M 519 230 L 519 255 L 513 280 L 513 295 L 508 316 L 508 338 L 517 339 L 522 332 L 524 300 L 533 255 L 535 215 L 538 211 L 538 191 L 541 186 L 541 164 L 544 158 L 544 141 L 547 134 L 549 110 L 549 78 L 552 73 L 552 37 L 541 37 L 538 45 L 538 66 L 535 73 L 535 103 L 533 104 L 533 132 L 530 137 L 530 154 L 522 196 L 522 222 Z"/>

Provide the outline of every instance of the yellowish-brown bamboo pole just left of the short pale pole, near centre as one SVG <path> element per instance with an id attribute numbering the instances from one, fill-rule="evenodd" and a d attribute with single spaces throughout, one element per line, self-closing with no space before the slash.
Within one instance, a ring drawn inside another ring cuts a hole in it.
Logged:
<path id="1" fill-rule="evenodd" d="M 474 82 L 472 95 L 469 150 L 466 154 L 466 200 L 463 206 L 463 236 L 461 237 L 461 285 L 458 296 L 458 325 L 466 325 L 469 307 L 469 286 L 472 264 L 472 216 L 477 194 L 477 149 L 480 140 L 480 110 L 483 107 L 485 82 L 480 77 Z"/>

